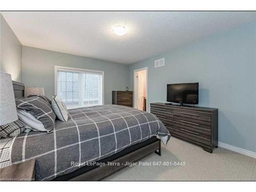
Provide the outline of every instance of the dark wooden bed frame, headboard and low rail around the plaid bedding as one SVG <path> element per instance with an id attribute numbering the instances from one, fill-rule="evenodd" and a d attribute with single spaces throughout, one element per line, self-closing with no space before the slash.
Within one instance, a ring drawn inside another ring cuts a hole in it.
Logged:
<path id="1" fill-rule="evenodd" d="M 15 98 L 24 98 L 25 86 L 23 83 L 12 81 Z M 137 143 L 125 148 L 121 152 L 110 157 L 101 159 L 97 162 L 105 162 L 103 166 L 84 166 L 72 173 L 58 176 L 54 181 L 99 181 L 109 177 L 119 170 L 129 166 L 128 163 L 134 163 L 144 157 L 156 153 L 161 156 L 161 140 L 152 137 L 146 141 Z M 110 163 L 107 163 L 110 162 Z"/>

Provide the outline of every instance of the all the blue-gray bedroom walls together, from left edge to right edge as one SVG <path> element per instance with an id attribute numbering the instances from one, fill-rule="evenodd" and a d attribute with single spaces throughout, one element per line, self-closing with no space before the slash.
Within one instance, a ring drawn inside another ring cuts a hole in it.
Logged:
<path id="1" fill-rule="evenodd" d="M 148 67 L 148 104 L 166 101 L 166 84 L 200 83 L 200 106 L 219 109 L 219 141 L 256 152 L 256 24 L 251 23 L 129 66 L 22 46 L 1 15 L 1 71 L 54 94 L 54 66 L 105 72 L 105 104 L 112 90 L 133 88 L 133 71 Z M 165 66 L 154 61 L 165 58 Z M 22 64 L 23 63 L 23 64 Z M 128 72 L 128 73 L 127 73 Z"/>

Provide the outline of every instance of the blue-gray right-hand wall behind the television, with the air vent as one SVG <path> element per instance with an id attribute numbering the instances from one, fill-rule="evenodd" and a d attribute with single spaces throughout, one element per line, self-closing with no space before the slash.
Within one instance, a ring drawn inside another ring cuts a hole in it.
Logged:
<path id="1" fill-rule="evenodd" d="M 163 57 L 165 66 L 155 68 Z M 167 83 L 199 82 L 199 106 L 219 109 L 219 141 L 256 152 L 255 23 L 130 65 L 130 87 L 143 67 L 148 103 L 166 102 Z"/>

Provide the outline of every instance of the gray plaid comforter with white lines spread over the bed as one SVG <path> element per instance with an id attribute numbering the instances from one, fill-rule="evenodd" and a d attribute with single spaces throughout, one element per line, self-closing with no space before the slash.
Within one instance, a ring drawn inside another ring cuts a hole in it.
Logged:
<path id="1" fill-rule="evenodd" d="M 153 114 L 120 105 L 69 110 L 68 122 L 56 121 L 52 133 L 18 135 L 11 149 L 12 163 L 36 158 L 36 180 L 52 180 L 109 157 L 130 145 L 170 134 Z"/>

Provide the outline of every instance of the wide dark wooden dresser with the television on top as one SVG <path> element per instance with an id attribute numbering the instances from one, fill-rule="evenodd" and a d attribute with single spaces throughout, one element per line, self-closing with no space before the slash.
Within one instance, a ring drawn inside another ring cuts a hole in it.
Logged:
<path id="1" fill-rule="evenodd" d="M 151 113 L 166 126 L 172 136 L 203 147 L 212 153 L 218 147 L 218 109 L 151 103 Z"/>

